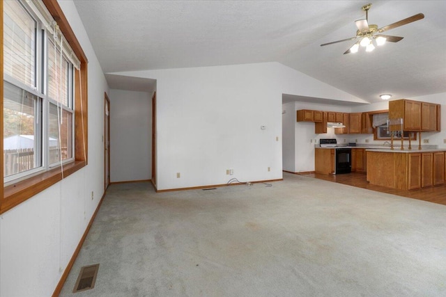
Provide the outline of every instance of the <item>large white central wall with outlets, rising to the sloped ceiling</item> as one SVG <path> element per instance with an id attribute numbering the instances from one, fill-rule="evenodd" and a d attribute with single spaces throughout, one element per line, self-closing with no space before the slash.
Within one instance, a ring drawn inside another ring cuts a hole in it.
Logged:
<path id="1" fill-rule="evenodd" d="M 159 190 L 281 179 L 283 93 L 362 101 L 280 63 L 114 74 L 157 79 Z"/>

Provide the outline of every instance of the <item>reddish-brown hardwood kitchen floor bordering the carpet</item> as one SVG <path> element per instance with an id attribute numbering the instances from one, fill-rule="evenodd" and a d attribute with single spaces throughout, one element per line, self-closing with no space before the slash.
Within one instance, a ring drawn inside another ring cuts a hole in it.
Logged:
<path id="1" fill-rule="evenodd" d="M 371 191 L 378 191 L 382 193 L 389 193 L 399 195 L 407 198 L 424 200 L 438 204 L 446 205 L 446 184 L 440 186 L 429 186 L 415 190 L 396 190 L 394 188 L 386 188 L 384 186 L 375 186 L 367 182 L 366 175 L 363 173 L 348 173 L 344 175 L 322 175 L 318 173 L 302 172 L 296 173 L 307 177 L 314 177 L 317 179 L 327 180 L 329 182 L 337 182 L 339 184 L 348 184 L 349 186 L 357 186 L 358 188 L 367 188 Z"/>

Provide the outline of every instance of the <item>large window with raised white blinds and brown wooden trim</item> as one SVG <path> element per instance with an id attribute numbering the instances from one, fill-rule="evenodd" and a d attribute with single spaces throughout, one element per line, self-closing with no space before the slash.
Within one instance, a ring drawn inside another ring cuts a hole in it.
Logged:
<path id="1" fill-rule="evenodd" d="M 57 1 L 0 9 L 3 213 L 86 165 L 88 113 L 86 56 Z"/>

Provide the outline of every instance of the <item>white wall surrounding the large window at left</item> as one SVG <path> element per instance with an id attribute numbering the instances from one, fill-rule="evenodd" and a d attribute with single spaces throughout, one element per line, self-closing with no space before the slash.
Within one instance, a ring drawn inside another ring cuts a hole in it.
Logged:
<path id="1" fill-rule="evenodd" d="M 51 296 L 104 193 L 107 83 L 74 3 L 59 4 L 89 59 L 89 165 L 1 215 L 0 296 Z"/>

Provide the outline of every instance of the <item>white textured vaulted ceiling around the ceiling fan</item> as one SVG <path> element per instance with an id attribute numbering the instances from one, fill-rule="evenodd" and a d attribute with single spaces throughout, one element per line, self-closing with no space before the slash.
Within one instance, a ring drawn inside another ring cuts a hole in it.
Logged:
<path id="1" fill-rule="evenodd" d="M 367 1 L 82 1 L 82 22 L 105 73 L 278 61 L 367 102 L 446 92 L 446 1 L 374 1 L 378 27 L 403 36 L 343 55 Z M 110 87 L 114 88 L 108 76 Z M 299 94 L 296 94 L 299 95 Z"/>

